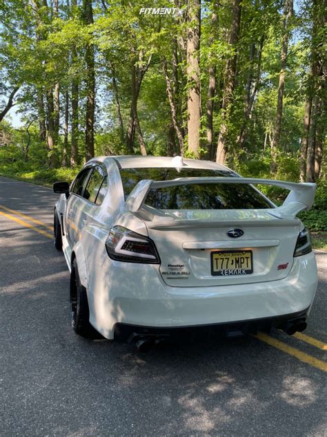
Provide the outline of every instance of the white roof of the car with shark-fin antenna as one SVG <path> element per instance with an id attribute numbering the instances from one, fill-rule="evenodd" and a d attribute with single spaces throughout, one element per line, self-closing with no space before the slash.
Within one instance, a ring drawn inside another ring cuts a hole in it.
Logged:
<path id="1" fill-rule="evenodd" d="M 106 160 L 115 159 L 123 169 L 141 168 L 141 167 L 180 167 L 179 162 L 182 162 L 182 167 L 190 167 L 195 169 L 214 169 L 214 170 L 230 170 L 224 165 L 216 164 L 216 162 L 199 159 L 187 159 L 179 156 L 97 156 L 96 160 L 106 164 Z"/>

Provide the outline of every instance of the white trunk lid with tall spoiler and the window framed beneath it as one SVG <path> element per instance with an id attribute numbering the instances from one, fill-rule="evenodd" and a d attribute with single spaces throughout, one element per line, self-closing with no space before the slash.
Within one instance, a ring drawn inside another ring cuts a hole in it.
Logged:
<path id="1" fill-rule="evenodd" d="M 275 207 L 253 184 L 290 190 Z M 224 286 L 288 275 L 315 184 L 235 177 L 141 180 L 126 200 L 155 242 L 165 283 Z M 172 206 L 173 205 L 173 206 Z M 190 206 L 194 209 L 190 209 Z"/>

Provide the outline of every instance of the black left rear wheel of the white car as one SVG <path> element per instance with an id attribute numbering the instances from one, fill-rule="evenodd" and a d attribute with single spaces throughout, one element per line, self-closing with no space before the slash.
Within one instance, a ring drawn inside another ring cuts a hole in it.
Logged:
<path id="1" fill-rule="evenodd" d="M 86 288 L 81 285 L 76 259 L 72 262 L 70 274 L 70 318 L 72 328 L 81 337 L 93 339 L 101 337 L 89 322 L 88 295 Z"/>

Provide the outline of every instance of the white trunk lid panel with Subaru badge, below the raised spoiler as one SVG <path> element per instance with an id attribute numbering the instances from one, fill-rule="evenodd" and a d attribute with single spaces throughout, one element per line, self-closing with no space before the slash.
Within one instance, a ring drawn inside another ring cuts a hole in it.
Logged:
<path id="1" fill-rule="evenodd" d="M 300 221 L 276 219 L 265 210 L 166 211 L 165 218 L 146 226 L 161 258 L 159 270 L 164 282 L 203 287 L 286 277 L 293 265 Z M 230 238 L 227 232 L 232 229 L 244 234 Z M 218 258 L 214 257 L 217 252 Z M 240 268 L 246 267 L 242 257 L 248 257 L 249 263 L 252 258 L 252 272 Z"/>

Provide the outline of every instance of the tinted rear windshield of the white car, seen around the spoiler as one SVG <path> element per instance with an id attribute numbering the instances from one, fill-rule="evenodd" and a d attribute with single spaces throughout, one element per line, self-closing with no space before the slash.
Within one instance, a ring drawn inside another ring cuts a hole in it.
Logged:
<path id="1" fill-rule="evenodd" d="M 125 196 L 142 179 L 171 180 L 175 178 L 237 176 L 232 171 L 183 168 L 121 169 Z M 271 208 L 253 187 L 243 184 L 192 184 L 151 189 L 146 205 L 158 210 L 257 210 Z"/>

